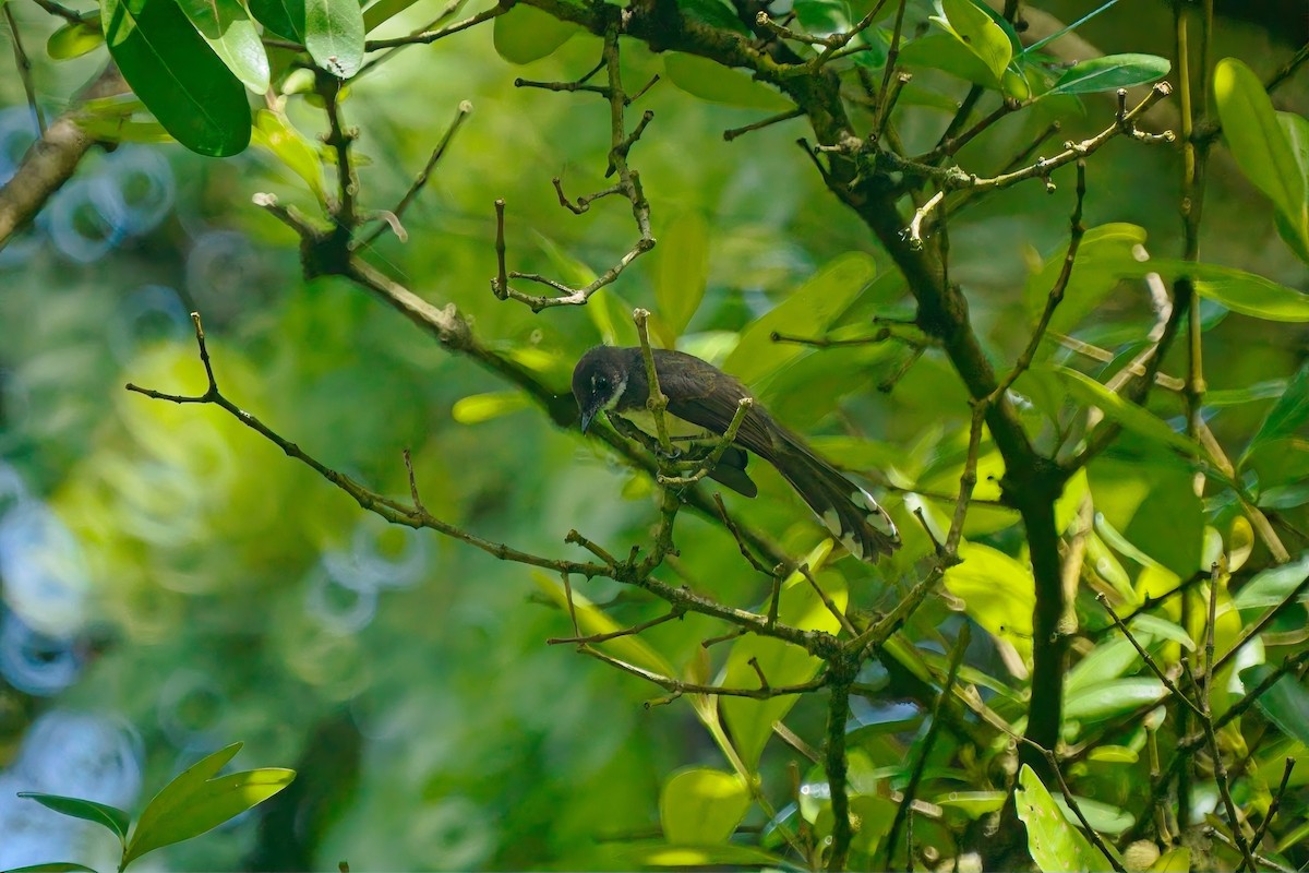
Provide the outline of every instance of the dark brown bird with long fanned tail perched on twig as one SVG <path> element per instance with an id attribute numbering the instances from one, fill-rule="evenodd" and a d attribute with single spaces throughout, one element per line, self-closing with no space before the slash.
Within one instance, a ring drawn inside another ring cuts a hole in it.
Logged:
<path id="1" fill-rule="evenodd" d="M 899 531 L 886 510 L 867 491 L 819 458 L 802 437 L 778 423 L 736 377 L 694 355 L 652 348 L 660 390 L 668 397 L 665 423 L 678 444 L 713 446 L 726 433 L 740 402 L 750 398 L 733 444 L 709 470 L 709 476 L 754 497 L 758 488 L 746 475 L 746 450 L 759 455 L 795 488 L 822 524 L 852 555 L 876 564 L 899 548 Z M 583 433 L 600 412 L 622 416 L 647 435 L 656 433 L 649 399 L 649 376 L 640 347 L 597 346 L 579 359 L 572 391 Z"/>

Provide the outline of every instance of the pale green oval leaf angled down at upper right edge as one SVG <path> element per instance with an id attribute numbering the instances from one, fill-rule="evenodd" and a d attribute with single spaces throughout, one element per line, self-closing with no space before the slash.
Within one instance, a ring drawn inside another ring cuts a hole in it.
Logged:
<path id="1" fill-rule="evenodd" d="M 1259 77 L 1236 58 L 1224 58 L 1213 68 L 1213 102 L 1223 139 L 1245 177 L 1292 226 L 1309 229 L 1305 175 Z"/>

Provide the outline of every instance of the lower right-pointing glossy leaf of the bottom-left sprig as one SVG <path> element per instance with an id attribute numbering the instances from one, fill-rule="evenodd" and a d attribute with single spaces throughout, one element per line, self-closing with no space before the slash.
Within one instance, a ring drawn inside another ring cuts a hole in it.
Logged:
<path id="1" fill-rule="evenodd" d="M 293 770 L 266 767 L 217 776 L 199 784 L 187 784 L 186 792 L 175 798 L 175 804 L 170 804 L 169 811 L 152 818 L 149 823 L 145 821 L 145 813 L 149 813 L 151 809 L 145 809 L 141 821 L 132 832 L 132 840 L 123 853 L 123 865 L 126 866 L 147 852 L 213 830 L 251 806 L 268 800 L 289 785 L 295 777 Z M 173 784 L 177 784 L 177 780 Z M 169 788 L 164 791 L 169 791 Z M 151 801 L 151 806 L 153 805 L 154 801 Z"/>

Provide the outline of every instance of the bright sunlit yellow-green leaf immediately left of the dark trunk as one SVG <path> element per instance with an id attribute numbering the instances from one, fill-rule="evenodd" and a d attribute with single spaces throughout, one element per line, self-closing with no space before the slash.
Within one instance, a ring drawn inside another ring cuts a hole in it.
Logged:
<path id="1" fill-rule="evenodd" d="M 997 639 L 1031 658 L 1031 610 L 1037 584 L 1031 569 L 1001 551 L 966 542 L 963 560 L 945 571 L 945 588 L 963 601 L 963 611 Z"/>

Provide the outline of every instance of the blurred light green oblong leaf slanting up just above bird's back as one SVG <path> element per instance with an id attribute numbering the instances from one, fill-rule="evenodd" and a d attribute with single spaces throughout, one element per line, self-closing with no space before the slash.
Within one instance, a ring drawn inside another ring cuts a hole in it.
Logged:
<path id="1" fill-rule="evenodd" d="M 851 251 L 829 262 L 797 292 L 741 332 L 723 369 L 755 390 L 779 370 L 809 353 L 804 346 L 775 343 L 772 332 L 819 336 L 864 291 L 877 274 L 873 259 Z"/>

